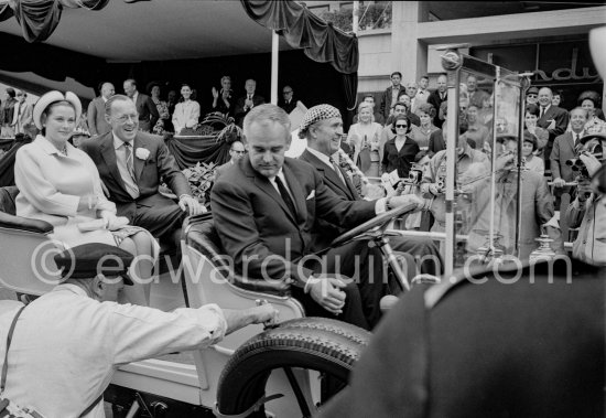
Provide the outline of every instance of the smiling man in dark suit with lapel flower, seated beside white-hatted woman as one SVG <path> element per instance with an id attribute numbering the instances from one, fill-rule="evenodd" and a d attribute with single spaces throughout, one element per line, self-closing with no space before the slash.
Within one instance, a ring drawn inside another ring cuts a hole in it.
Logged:
<path id="1" fill-rule="evenodd" d="M 138 131 L 134 103 L 116 95 L 106 106 L 111 131 L 83 142 L 80 149 L 97 165 L 119 216 L 154 237 L 177 244 L 185 216 L 204 212 L 203 206 L 192 197 L 190 184 L 162 138 Z M 159 193 L 160 179 L 178 197 L 178 204 Z"/>

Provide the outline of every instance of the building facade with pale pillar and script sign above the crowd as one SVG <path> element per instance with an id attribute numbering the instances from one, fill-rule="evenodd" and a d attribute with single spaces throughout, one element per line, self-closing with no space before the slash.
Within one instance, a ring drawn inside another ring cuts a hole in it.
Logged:
<path id="1" fill-rule="evenodd" d="M 464 53 L 511 71 L 532 72 L 532 84 L 564 95 L 565 108 L 576 106 L 583 90 L 604 98 L 588 49 L 588 32 L 606 23 L 606 2 L 541 3 L 480 1 L 309 1 L 314 12 L 354 10 L 370 4 L 390 7 L 390 24 L 358 31 L 358 89 L 381 92 L 389 74 L 400 71 L 402 83 L 442 72 L 440 47 L 468 44 Z M 362 19 L 364 20 L 364 19 Z M 603 106 L 604 106 L 603 99 Z"/>

